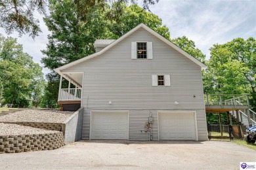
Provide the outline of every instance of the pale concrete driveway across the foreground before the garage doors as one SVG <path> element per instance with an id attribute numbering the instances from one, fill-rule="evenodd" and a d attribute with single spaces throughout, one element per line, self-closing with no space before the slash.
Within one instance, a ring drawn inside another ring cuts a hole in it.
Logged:
<path id="1" fill-rule="evenodd" d="M 0 169 L 240 169 L 256 152 L 221 141 L 79 141 L 57 150 L 0 154 Z"/>

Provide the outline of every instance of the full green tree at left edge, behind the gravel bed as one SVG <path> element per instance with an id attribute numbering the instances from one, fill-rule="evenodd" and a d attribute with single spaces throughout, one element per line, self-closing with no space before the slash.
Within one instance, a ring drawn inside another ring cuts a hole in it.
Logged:
<path id="1" fill-rule="evenodd" d="M 0 80 L 5 103 L 14 107 L 28 107 L 33 84 L 42 78 L 42 68 L 11 37 L 0 36 Z"/>

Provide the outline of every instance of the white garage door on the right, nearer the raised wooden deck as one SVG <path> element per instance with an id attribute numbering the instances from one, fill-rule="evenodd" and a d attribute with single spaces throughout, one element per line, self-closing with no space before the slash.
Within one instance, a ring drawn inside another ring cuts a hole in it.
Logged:
<path id="1" fill-rule="evenodd" d="M 158 112 L 159 140 L 196 140 L 194 112 Z"/>

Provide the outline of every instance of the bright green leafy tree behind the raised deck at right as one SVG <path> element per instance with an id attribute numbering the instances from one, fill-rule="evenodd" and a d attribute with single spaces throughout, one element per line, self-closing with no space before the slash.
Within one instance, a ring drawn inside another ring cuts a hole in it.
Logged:
<path id="1" fill-rule="evenodd" d="M 249 93 L 250 103 L 256 106 L 256 41 L 234 39 L 225 44 L 213 44 L 210 48 L 206 77 L 213 80 L 215 93 Z M 204 81 L 209 84 L 209 80 Z"/>

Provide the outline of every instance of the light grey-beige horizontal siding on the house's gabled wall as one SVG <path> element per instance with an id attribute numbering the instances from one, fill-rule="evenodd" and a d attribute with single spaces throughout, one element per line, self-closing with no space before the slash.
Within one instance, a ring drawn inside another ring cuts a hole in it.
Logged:
<path id="1" fill-rule="evenodd" d="M 152 42 L 153 59 L 131 59 L 131 42 Z M 206 140 L 202 75 L 199 65 L 143 28 L 104 54 L 64 71 L 83 71 L 82 107 L 85 107 L 83 139 L 89 139 L 90 110 L 130 110 L 129 137 L 146 139 L 134 129 L 144 127 L 143 110 L 196 110 L 199 140 Z M 170 75 L 171 86 L 152 86 L 152 75 Z M 193 97 L 196 95 L 196 98 Z M 112 101 L 109 105 L 108 101 Z M 175 101 L 179 105 L 175 105 Z M 140 120 L 133 116 L 137 110 Z M 149 112 L 148 112 L 149 113 Z M 157 113 L 154 114 L 157 116 Z M 139 121 L 137 125 L 135 121 Z M 154 122 L 157 121 L 154 119 Z M 135 127 L 136 126 L 136 127 Z M 158 139 L 157 123 L 153 139 Z"/>

